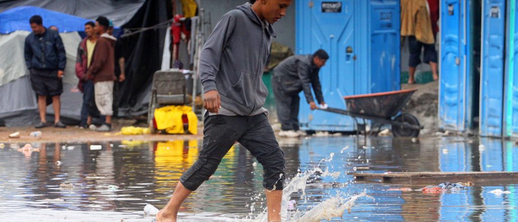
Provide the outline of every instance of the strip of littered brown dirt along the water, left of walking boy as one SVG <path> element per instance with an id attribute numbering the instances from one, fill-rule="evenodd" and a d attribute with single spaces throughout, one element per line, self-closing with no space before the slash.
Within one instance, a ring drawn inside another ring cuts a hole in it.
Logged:
<path id="1" fill-rule="evenodd" d="M 76 126 L 67 128 L 46 127 L 36 129 L 34 127 L 0 127 L 0 143 L 22 142 L 104 142 L 119 140 L 145 140 L 145 141 L 169 141 L 192 140 L 203 138 L 203 125 L 198 126 L 197 135 L 120 135 L 118 132 L 123 125 L 115 125 L 111 132 L 96 132 L 89 129 L 80 129 Z M 32 131 L 41 131 L 40 138 L 31 137 Z M 20 138 L 9 138 L 9 134 L 20 132 Z"/>

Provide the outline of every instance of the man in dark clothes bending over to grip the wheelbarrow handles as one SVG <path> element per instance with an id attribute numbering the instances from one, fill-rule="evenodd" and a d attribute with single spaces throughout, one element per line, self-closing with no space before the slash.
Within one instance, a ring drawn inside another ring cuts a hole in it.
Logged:
<path id="1" fill-rule="evenodd" d="M 274 68 L 271 78 L 271 87 L 275 94 L 277 116 L 281 123 L 281 137 L 298 137 L 306 133 L 299 130 L 298 109 L 300 97 L 298 94 L 304 91 L 304 96 L 311 110 L 316 109 L 311 87 L 316 100 L 320 105 L 326 106 L 322 96 L 319 71 L 329 55 L 319 49 L 313 55 L 292 55 Z"/>

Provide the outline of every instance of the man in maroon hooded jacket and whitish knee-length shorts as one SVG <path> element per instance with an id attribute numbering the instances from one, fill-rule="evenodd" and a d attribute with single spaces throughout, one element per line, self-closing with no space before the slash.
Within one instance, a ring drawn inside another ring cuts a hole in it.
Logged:
<path id="1" fill-rule="evenodd" d="M 111 116 L 113 115 L 113 81 L 115 76 L 115 55 L 113 46 L 117 38 L 110 36 L 106 31 L 109 27 L 109 20 L 99 16 L 95 20 L 95 32 L 99 38 L 95 43 L 92 61 L 88 68 L 87 78 L 94 82 L 95 105 L 106 120 L 97 131 L 111 131 Z"/>

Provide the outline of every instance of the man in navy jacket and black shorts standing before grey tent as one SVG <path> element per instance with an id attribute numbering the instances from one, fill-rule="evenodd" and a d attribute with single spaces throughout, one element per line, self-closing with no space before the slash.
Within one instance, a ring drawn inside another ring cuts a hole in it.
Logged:
<path id="1" fill-rule="evenodd" d="M 60 121 L 61 102 L 63 93 L 63 70 L 65 70 L 65 47 L 59 33 L 43 26 L 40 16 L 29 20 L 32 33 L 25 38 L 25 63 L 31 71 L 31 85 L 38 95 L 38 110 L 40 122 L 36 128 L 47 126 L 46 109 L 47 97 L 52 97 L 54 108 L 54 127 L 65 128 Z"/>

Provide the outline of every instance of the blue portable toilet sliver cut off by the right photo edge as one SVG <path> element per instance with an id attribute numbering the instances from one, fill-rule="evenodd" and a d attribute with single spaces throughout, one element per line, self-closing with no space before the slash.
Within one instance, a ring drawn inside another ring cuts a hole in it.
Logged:
<path id="1" fill-rule="evenodd" d="M 503 136 L 516 138 L 518 137 L 518 22 L 516 21 L 517 0 L 509 0 L 508 3 Z"/>

